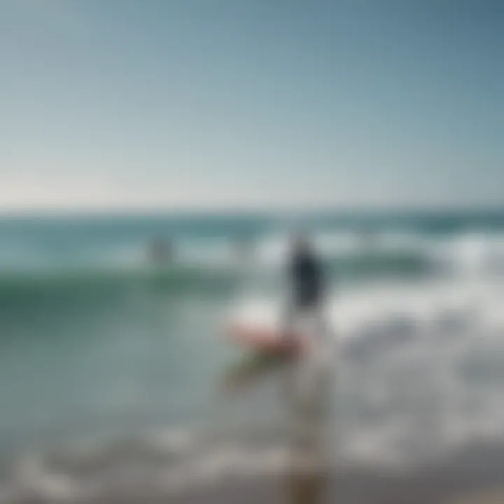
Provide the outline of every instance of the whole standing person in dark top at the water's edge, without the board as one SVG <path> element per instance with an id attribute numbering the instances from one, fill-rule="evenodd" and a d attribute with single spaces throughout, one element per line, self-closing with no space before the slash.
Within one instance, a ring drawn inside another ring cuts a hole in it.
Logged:
<path id="1" fill-rule="evenodd" d="M 289 345 L 302 352 L 286 381 L 290 496 L 293 502 L 321 503 L 325 500 L 325 469 L 331 466 L 334 446 L 330 402 L 334 366 L 332 331 L 323 314 L 327 287 L 323 262 L 307 237 L 293 241 L 288 277 L 286 337 Z"/>

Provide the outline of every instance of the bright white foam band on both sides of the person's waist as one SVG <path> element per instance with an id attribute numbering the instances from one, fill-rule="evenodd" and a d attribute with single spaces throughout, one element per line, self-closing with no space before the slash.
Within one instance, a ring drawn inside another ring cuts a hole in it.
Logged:
<path id="1" fill-rule="evenodd" d="M 475 314 L 495 328 L 504 324 L 502 293 L 488 281 L 437 281 L 405 286 L 380 284 L 330 297 L 325 316 L 340 339 L 356 337 L 363 328 L 406 318 L 423 328 L 442 316 Z M 249 325 L 279 328 L 282 304 L 272 297 L 240 300 L 230 318 Z"/>

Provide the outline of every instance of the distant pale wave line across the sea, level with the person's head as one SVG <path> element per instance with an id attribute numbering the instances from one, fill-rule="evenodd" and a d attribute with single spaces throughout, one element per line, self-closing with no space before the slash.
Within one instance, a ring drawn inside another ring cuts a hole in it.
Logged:
<path id="1" fill-rule="evenodd" d="M 380 233 L 318 231 L 308 233 L 322 257 L 367 254 L 418 253 L 454 262 L 478 261 L 489 255 L 502 256 L 504 235 L 464 232 L 455 235 L 428 235 L 411 231 Z M 288 253 L 288 235 L 266 233 L 246 240 L 200 237 L 172 241 L 174 262 L 184 265 L 219 266 L 240 264 L 253 258 L 261 265 L 280 265 Z M 37 267 L 146 267 L 150 264 L 148 241 L 62 241 L 48 244 L 43 239 L 11 237 L 0 246 L 0 269 Z"/>

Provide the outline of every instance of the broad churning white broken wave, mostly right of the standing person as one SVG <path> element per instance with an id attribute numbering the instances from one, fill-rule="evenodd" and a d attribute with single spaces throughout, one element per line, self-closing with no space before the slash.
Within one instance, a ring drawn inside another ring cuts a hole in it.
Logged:
<path id="1" fill-rule="evenodd" d="M 338 344 L 339 454 L 403 463 L 504 434 L 504 286 L 488 279 L 426 281 L 336 295 L 326 307 Z M 272 300 L 230 314 L 279 324 Z"/>

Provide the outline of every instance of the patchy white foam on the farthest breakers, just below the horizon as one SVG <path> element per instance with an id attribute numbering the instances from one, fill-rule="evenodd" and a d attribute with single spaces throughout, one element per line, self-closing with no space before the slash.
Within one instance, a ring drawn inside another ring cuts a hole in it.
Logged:
<path id="1" fill-rule="evenodd" d="M 318 231 L 311 233 L 314 246 L 324 258 L 335 259 L 377 253 L 414 255 L 454 275 L 475 276 L 504 273 L 504 235 L 465 232 L 453 237 L 430 237 L 414 232 L 386 231 L 377 234 L 366 248 L 363 237 L 351 231 Z M 6 241 L 0 247 L 0 271 L 13 269 L 119 268 L 137 269 L 149 265 L 148 242 L 75 244 L 75 250 L 48 251 L 37 244 L 29 247 L 17 241 Z M 250 260 L 262 269 L 281 267 L 287 258 L 289 236 L 282 232 L 269 232 L 251 242 Z M 28 251 L 28 252 L 27 252 Z M 181 239 L 174 241 L 175 265 L 229 269 L 244 265 L 236 244 L 230 238 Z"/>

